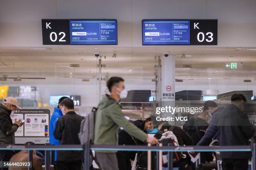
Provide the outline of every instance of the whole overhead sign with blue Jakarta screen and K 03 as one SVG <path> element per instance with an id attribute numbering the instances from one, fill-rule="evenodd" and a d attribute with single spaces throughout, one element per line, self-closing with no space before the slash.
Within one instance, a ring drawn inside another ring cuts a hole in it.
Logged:
<path id="1" fill-rule="evenodd" d="M 142 45 L 217 45 L 218 20 L 142 20 Z"/>

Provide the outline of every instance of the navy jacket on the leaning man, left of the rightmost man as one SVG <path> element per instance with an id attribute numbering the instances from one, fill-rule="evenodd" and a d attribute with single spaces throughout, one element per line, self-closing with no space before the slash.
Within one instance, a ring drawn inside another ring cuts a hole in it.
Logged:
<path id="1" fill-rule="evenodd" d="M 219 139 L 218 136 L 218 127 L 217 127 L 217 120 L 218 115 L 221 115 L 224 110 L 224 107 L 218 107 L 213 113 L 212 113 L 212 119 L 210 121 L 210 125 L 207 128 L 207 131 L 205 135 L 202 137 L 202 139 L 197 143 L 197 146 L 203 146 L 203 145 L 210 145 L 212 142 L 212 139 Z"/>

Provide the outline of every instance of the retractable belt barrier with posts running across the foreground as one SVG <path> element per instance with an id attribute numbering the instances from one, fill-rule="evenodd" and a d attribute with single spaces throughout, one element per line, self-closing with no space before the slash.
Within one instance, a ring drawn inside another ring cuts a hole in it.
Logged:
<path id="1" fill-rule="evenodd" d="M 50 170 L 50 150 L 80 150 L 84 151 L 84 170 L 90 170 L 90 150 L 113 150 L 113 151 L 148 151 L 148 152 L 168 152 L 171 157 L 172 152 L 252 152 L 253 170 L 256 170 L 256 144 L 251 146 L 139 146 L 139 145 L 0 145 L 0 150 L 28 150 L 28 161 L 32 165 L 32 151 L 45 151 L 45 170 Z M 172 159 L 168 159 L 168 169 L 172 170 Z M 32 170 L 32 166 L 28 168 Z M 158 167 L 157 167 L 157 170 Z"/>

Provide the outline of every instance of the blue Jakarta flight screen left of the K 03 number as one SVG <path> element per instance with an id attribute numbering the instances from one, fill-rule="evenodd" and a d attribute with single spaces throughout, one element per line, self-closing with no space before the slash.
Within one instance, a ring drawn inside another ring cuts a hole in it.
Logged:
<path id="1" fill-rule="evenodd" d="M 190 45 L 190 21 L 142 20 L 142 45 Z"/>

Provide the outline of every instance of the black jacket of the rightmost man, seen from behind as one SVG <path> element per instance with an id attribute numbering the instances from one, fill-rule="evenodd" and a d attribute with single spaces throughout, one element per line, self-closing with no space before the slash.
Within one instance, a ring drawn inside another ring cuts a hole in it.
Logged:
<path id="1" fill-rule="evenodd" d="M 250 145 L 249 139 L 254 135 L 254 128 L 248 116 L 236 105 L 230 104 L 218 116 L 218 133 L 220 146 Z M 251 152 L 222 152 L 220 157 L 249 159 Z"/>

